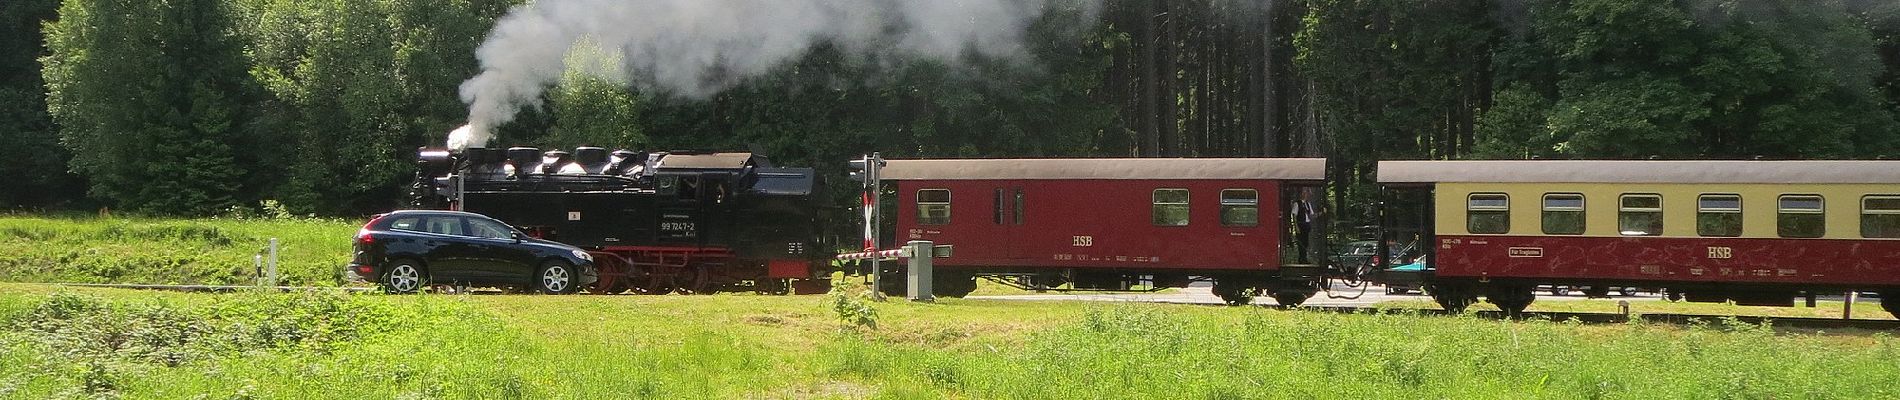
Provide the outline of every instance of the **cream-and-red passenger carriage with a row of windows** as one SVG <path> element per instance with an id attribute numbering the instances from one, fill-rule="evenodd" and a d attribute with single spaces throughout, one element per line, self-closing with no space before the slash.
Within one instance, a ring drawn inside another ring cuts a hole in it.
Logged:
<path id="1" fill-rule="evenodd" d="M 1881 292 L 1900 315 L 1900 161 L 1381 161 L 1448 309 L 1535 284 L 1792 305 Z M 1389 243 L 1414 237 L 1389 233 Z"/>

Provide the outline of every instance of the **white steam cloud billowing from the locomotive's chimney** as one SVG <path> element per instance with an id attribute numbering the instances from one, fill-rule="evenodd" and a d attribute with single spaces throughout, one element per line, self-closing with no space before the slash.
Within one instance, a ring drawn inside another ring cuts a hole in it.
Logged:
<path id="1" fill-rule="evenodd" d="M 450 148 L 483 146 L 519 108 L 540 106 L 576 44 L 621 61 L 587 74 L 707 97 L 826 42 L 853 55 L 1024 57 L 1024 30 L 1051 2 L 1064 0 L 536 0 L 475 51 L 483 72 L 462 83 L 469 127 Z M 1098 11 L 1075 6 L 1083 21 Z"/>

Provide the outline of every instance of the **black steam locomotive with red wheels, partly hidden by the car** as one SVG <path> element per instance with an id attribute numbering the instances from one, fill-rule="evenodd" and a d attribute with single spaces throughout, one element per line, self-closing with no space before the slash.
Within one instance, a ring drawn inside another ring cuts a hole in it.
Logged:
<path id="1" fill-rule="evenodd" d="M 758 154 L 422 148 L 412 207 L 587 248 L 591 292 L 830 290 L 821 180 Z"/>

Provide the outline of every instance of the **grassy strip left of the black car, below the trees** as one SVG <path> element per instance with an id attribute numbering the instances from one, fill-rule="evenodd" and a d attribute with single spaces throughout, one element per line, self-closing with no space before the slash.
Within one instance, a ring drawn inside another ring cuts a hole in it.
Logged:
<path id="1" fill-rule="evenodd" d="M 253 284 L 279 239 L 279 284 L 336 286 L 363 222 L 0 218 L 0 281 Z"/>

